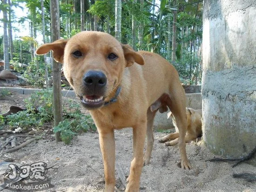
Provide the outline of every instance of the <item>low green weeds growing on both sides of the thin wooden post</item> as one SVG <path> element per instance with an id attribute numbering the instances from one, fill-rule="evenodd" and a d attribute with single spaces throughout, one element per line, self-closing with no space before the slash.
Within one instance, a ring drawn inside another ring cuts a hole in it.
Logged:
<path id="1" fill-rule="evenodd" d="M 35 92 L 27 99 L 24 99 L 27 110 L 7 116 L 8 126 L 21 127 L 26 130 L 28 127 L 42 127 L 45 122 L 53 121 L 53 92 L 52 89 Z M 94 121 L 90 115 L 84 115 L 80 111 L 80 105 L 69 99 L 67 106 L 63 106 L 63 121 L 56 127 L 54 132 L 61 133 L 61 140 L 69 144 L 76 133 L 96 130 Z M 1 117 L 0 117 L 1 126 Z"/>

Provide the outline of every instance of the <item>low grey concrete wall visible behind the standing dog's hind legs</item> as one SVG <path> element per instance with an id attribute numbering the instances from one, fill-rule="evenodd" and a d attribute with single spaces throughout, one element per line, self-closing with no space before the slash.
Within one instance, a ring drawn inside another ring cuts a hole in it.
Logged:
<path id="1" fill-rule="evenodd" d="M 202 109 L 201 93 L 189 93 L 189 94 L 186 94 L 186 98 L 187 98 L 187 104 L 186 104 L 187 107 L 190 107 L 193 109 Z M 154 127 L 156 129 L 170 129 L 174 126 L 172 125 L 172 120 L 167 119 L 167 113 L 157 112 L 155 115 Z"/>

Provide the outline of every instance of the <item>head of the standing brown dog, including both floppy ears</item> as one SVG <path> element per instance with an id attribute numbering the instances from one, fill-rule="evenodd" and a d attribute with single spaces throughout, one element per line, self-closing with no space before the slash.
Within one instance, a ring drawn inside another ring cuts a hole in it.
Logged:
<path id="1" fill-rule="evenodd" d="M 40 46 L 37 54 L 53 51 L 63 64 L 64 75 L 88 109 L 108 102 L 121 84 L 124 68 L 144 59 L 130 46 L 122 45 L 108 33 L 81 32 L 69 40 L 56 40 Z"/>

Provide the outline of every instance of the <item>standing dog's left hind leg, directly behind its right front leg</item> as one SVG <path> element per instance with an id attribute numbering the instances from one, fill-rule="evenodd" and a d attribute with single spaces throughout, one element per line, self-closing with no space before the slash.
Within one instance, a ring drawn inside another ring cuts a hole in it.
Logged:
<path id="1" fill-rule="evenodd" d="M 151 152 L 153 149 L 153 143 L 154 143 L 154 135 L 153 135 L 153 122 L 155 118 L 155 111 L 151 111 L 150 108 L 148 108 L 147 112 L 147 149 L 143 158 L 144 166 L 149 164 Z"/>

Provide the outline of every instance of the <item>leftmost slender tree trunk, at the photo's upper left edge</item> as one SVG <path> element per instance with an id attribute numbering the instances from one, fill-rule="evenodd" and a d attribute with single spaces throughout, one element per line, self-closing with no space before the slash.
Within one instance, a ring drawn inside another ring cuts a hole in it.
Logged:
<path id="1" fill-rule="evenodd" d="M 2 0 L 3 6 L 7 4 L 6 0 Z M 9 45 L 8 45 L 8 33 L 7 33 L 7 11 L 6 9 L 3 9 L 3 23 L 4 23 L 4 60 L 5 60 L 5 66 L 4 69 L 9 70 L 10 69 L 10 63 L 9 63 Z"/>

